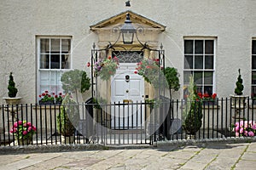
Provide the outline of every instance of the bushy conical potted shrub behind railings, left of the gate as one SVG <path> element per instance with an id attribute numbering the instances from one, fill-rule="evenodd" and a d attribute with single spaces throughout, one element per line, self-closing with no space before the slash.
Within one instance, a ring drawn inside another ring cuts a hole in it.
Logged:
<path id="1" fill-rule="evenodd" d="M 67 94 L 62 101 L 61 111 L 57 115 L 57 129 L 61 134 L 62 142 L 72 144 L 74 132 L 79 123 L 79 105 Z"/>

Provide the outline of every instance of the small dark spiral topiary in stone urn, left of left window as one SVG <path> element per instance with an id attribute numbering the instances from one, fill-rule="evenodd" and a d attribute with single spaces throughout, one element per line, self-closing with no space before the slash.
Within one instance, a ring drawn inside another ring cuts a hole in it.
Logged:
<path id="1" fill-rule="evenodd" d="M 5 99 L 6 103 L 8 105 L 17 105 L 20 102 L 20 97 L 16 97 L 18 93 L 18 89 L 15 88 L 15 80 L 13 77 L 13 73 L 10 72 L 9 74 L 9 84 L 8 84 L 8 98 L 3 98 Z"/>

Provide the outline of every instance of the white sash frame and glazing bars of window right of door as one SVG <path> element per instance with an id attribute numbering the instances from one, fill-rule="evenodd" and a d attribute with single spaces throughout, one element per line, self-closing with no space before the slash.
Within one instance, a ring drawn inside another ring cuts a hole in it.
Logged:
<path id="1" fill-rule="evenodd" d="M 185 54 L 185 41 L 186 40 L 192 40 L 193 41 L 193 54 Z M 203 53 L 202 54 L 195 54 L 195 40 L 202 40 L 203 41 Z M 213 54 L 206 54 L 205 53 L 205 41 L 207 40 L 212 40 L 213 41 Z M 200 72 L 204 72 L 204 71 L 212 71 L 212 94 L 216 93 L 216 50 L 217 50 L 217 37 L 183 37 L 183 87 L 188 86 L 188 83 L 185 83 L 185 71 L 191 71 L 194 74 L 194 71 L 200 71 Z M 186 69 L 185 68 L 185 56 L 188 55 L 192 55 L 193 57 L 193 68 L 189 68 Z M 202 59 L 202 68 L 201 69 L 195 69 L 195 56 L 203 56 Z M 205 69 L 206 66 L 206 62 L 205 62 L 205 57 L 207 55 L 212 55 L 213 57 L 213 61 L 212 61 L 212 65 L 213 68 L 212 69 Z M 204 77 L 204 75 L 202 75 L 202 77 Z M 202 87 L 201 92 L 204 93 L 204 87 L 207 86 L 207 84 L 204 83 L 204 78 L 202 79 L 201 84 L 199 84 L 198 86 Z M 183 91 L 183 96 L 184 96 L 184 91 Z"/>

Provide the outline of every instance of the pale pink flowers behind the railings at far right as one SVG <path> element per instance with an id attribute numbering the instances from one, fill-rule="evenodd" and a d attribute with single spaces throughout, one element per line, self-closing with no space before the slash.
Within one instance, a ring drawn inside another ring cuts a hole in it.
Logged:
<path id="1" fill-rule="evenodd" d="M 236 133 L 236 136 L 251 136 L 256 135 L 256 123 L 254 121 L 240 121 L 233 125 L 232 132 Z"/>

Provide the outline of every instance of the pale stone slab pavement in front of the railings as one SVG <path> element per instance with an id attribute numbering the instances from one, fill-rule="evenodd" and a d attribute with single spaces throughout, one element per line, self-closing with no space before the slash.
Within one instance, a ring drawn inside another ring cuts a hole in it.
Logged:
<path id="1" fill-rule="evenodd" d="M 166 145 L 150 148 L 79 150 L 0 155 L 9 169 L 255 169 L 256 143 Z"/>

